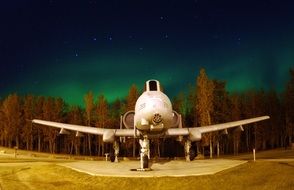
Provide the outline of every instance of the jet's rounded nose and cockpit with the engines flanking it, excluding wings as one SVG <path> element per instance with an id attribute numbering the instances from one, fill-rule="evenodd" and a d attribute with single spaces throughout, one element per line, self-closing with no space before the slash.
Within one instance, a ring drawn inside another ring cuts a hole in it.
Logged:
<path id="1" fill-rule="evenodd" d="M 136 113 L 136 114 L 135 114 Z M 181 115 L 172 110 L 169 98 L 158 81 L 146 82 L 146 91 L 138 98 L 135 111 L 121 117 L 121 128 L 162 133 L 167 128 L 182 128 Z"/>

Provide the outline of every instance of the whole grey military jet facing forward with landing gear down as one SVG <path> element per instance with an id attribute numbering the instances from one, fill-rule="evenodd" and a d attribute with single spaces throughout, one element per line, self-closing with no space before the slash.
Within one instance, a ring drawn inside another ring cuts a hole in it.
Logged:
<path id="1" fill-rule="evenodd" d="M 243 125 L 269 119 L 269 116 L 250 118 L 222 124 L 215 124 L 201 127 L 183 128 L 181 115 L 173 111 L 170 99 L 161 91 L 161 86 L 157 80 L 148 80 L 145 91 L 138 98 L 135 111 L 129 111 L 122 117 L 125 128 L 106 129 L 73 124 L 57 123 L 34 119 L 35 124 L 60 128 L 60 134 L 68 134 L 75 131 L 76 136 L 81 133 L 102 135 L 103 141 L 113 143 L 115 161 L 118 161 L 119 145 L 118 141 L 122 137 L 134 137 L 140 139 L 140 171 L 150 170 L 148 160 L 150 159 L 149 139 L 163 137 L 182 137 L 185 141 L 186 160 L 192 159 L 191 142 L 200 141 L 202 134 L 215 131 L 225 131 L 228 128 L 239 127 L 243 130 Z"/>

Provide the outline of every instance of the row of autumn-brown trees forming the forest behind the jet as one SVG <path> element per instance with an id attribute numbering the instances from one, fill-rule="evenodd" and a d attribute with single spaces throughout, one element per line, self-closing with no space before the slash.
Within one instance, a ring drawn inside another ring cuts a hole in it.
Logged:
<path id="1" fill-rule="evenodd" d="M 58 129 L 33 125 L 32 119 L 119 128 L 121 115 L 134 110 L 139 95 L 137 86 L 132 85 L 125 98 L 109 103 L 103 94 L 95 96 L 89 91 L 83 97 L 84 107 L 80 107 L 66 104 L 62 98 L 57 97 L 10 94 L 0 99 L 0 146 L 49 153 L 103 156 L 110 151 L 112 145 L 103 143 L 100 136 L 84 134 L 76 137 L 75 133 L 59 135 Z M 216 146 L 219 147 L 220 154 L 238 154 L 249 152 L 252 148 L 287 148 L 293 143 L 293 69 L 289 69 L 289 80 L 282 92 L 259 89 L 242 93 L 229 93 L 225 81 L 210 79 L 205 69 L 201 69 L 188 92 L 180 92 L 171 100 L 173 109 L 182 115 L 183 127 L 204 126 L 262 115 L 271 117 L 269 120 L 244 126 L 243 132 L 229 130 L 228 134 L 206 134 L 197 143 L 200 149 L 198 151 L 204 151 L 211 145 L 214 155 Z M 124 143 L 120 143 L 120 156 L 138 156 L 138 140 L 135 142 L 134 144 L 133 139 L 126 138 Z M 170 138 L 152 140 L 151 155 L 183 156 L 183 142 Z"/>

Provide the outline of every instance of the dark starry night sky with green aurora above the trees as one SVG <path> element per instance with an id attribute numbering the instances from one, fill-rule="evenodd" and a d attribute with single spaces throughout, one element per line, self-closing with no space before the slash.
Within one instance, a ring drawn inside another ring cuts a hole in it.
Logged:
<path id="1" fill-rule="evenodd" d="M 230 92 L 282 91 L 294 66 L 290 0 L 11 0 L 0 21 L 2 98 L 111 102 L 152 78 L 175 96 L 201 67 Z"/>

